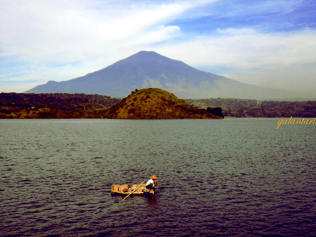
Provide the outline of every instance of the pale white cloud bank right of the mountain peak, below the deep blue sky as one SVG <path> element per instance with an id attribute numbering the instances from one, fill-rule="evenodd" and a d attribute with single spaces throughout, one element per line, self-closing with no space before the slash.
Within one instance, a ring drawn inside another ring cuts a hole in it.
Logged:
<path id="1" fill-rule="evenodd" d="M 240 82 L 315 94 L 315 30 L 261 33 L 229 28 L 217 32 L 156 50 L 194 67 L 231 68 L 221 75 Z"/>

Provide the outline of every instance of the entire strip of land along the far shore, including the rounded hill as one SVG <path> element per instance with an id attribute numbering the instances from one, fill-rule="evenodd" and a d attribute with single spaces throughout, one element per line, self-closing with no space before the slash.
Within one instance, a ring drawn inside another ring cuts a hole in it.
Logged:
<path id="1" fill-rule="evenodd" d="M 180 100 L 157 88 L 136 90 L 122 100 L 82 93 L 0 94 L 0 119 L 192 119 L 212 116 L 316 118 L 316 101 Z"/>

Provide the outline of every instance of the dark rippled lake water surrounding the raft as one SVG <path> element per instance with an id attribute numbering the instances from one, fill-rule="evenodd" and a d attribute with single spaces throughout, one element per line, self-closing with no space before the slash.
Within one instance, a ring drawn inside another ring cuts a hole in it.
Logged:
<path id="1" fill-rule="evenodd" d="M 316 236 L 316 124 L 277 121 L 0 120 L 0 235 Z"/>

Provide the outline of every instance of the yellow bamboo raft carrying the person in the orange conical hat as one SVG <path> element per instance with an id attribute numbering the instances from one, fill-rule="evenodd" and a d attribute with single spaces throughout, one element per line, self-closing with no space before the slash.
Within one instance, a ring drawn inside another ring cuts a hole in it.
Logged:
<path id="1" fill-rule="evenodd" d="M 135 189 L 137 189 L 135 191 Z M 128 184 L 128 185 L 112 185 L 111 195 L 132 195 L 143 196 L 143 195 L 154 195 L 154 190 L 148 191 L 144 184 Z"/>

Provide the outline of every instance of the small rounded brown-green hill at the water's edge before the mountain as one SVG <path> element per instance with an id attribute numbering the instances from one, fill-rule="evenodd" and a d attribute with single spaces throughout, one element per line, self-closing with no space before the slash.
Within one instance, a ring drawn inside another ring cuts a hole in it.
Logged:
<path id="1" fill-rule="evenodd" d="M 220 107 L 199 109 L 159 88 L 133 91 L 101 116 L 107 119 L 223 119 Z"/>

